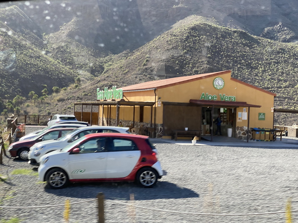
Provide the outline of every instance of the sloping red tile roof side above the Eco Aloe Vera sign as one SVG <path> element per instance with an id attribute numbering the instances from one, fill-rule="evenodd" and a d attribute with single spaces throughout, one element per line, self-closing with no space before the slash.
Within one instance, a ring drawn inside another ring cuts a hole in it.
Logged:
<path id="1" fill-rule="evenodd" d="M 121 89 L 123 91 L 136 91 L 136 90 L 146 90 L 146 89 L 159 89 L 164 87 L 170 87 L 177 84 L 183 84 L 190 81 L 196 81 L 199 79 L 203 79 L 206 77 L 212 77 L 217 76 L 225 73 L 229 73 L 231 70 L 224 70 L 214 73 L 203 73 L 198 75 L 191 75 L 191 76 L 184 76 L 184 77 L 174 77 L 174 78 L 168 78 L 163 80 L 157 80 L 157 81 L 148 81 L 140 84 L 134 84 L 127 87 L 122 87 Z"/>

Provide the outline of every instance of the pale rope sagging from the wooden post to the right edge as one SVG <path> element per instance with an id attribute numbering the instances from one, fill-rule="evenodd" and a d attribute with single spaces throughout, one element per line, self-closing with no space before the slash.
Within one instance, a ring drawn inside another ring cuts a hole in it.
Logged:
<path id="1" fill-rule="evenodd" d="M 171 211 L 171 210 L 164 210 L 164 209 L 157 209 L 157 208 L 148 208 L 148 207 L 143 207 L 139 205 L 133 205 L 133 204 L 126 204 L 123 202 L 119 201 L 114 201 L 111 200 L 114 203 L 118 204 L 123 204 L 123 205 L 129 205 L 129 206 L 134 206 L 137 208 L 144 208 L 144 209 L 149 209 L 149 210 L 154 210 L 154 211 L 165 211 L 165 212 L 173 212 L 173 213 L 182 213 L 182 214 L 197 214 L 197 215 L 216 215 L 216 216 L 243 216 L 243 215 L 264 215 L 264 214 L 281 214 L 285 213 L 285 211 L 279 211 L 279 212 L 266 212 L 266 213 L 247 213 L 247 214 L 211 214 L 211 213 L 195 213 L 195 212 L 185 212 L 185 211 Z M 293 210 L 291 212 L 298 211 L 298 210 Z"/>

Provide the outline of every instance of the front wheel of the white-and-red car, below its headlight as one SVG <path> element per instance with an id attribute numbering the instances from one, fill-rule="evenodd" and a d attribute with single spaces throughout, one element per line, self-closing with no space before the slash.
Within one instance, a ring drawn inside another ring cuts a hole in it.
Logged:
<path id="1" fill-rule="evenodd" d="M 52 189 L 62 189 L 69 183 L 68 176 L 63 169 L 51 169 L 46 174 L 47 185 Z"/>

